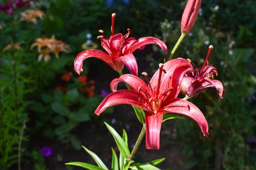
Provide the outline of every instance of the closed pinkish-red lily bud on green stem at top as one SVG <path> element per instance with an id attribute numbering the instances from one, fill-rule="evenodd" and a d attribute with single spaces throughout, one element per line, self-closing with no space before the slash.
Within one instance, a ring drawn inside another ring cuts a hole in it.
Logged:
<path id="1" fill-rule="evenodd" d="M 189 33 L 198 17 L 202 0 L 188 0 L 181 19 L 181 32 Z"/>

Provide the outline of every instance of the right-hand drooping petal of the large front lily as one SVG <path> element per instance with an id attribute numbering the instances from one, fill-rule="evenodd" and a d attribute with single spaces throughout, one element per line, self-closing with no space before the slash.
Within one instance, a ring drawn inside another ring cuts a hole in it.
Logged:
<path id="1" fill-rule="evenodd" d="M 179 113 L 181 115 L 185 115 L 193 119 L 201 128 L 204 136 L 208 136 L 208 123 L 204 117 L 204 114 L 189 101 L 184 99 L 170 99 L 166 102 L 166 106 L 164 106 L 164 110 L 166 113 Z"/>

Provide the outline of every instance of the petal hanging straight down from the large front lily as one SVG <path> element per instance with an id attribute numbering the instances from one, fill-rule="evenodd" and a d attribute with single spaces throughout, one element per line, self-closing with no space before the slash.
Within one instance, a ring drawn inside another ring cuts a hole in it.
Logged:
<path id="1" fill-rule="evenodd" d="M 145 112 L 146 123 L 146 148 L 157 149 L 160 147 L 160 130 L 164 114 Z"/>

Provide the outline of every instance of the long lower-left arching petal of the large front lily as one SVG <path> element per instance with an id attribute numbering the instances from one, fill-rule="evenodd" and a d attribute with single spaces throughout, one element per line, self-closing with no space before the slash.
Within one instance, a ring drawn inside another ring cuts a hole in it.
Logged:
<path id="1" fill-rule="evenodd" d="M 132 90 L 119 90 L 105 97 L 94 113 L 99 116 L 106 108 L 116 104 L 130 104 L 143 110 L 152 110 L 148 99 L 141 93 Z"/>

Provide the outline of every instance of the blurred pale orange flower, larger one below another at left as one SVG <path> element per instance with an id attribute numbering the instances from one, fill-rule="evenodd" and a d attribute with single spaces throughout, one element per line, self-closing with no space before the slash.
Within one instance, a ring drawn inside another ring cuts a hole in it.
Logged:
<path id="1" fill-rule="evenodd" d="M 49 53 L 54 53 L 55 57 L 59 58 L 58 54 L 60 52 L 68 53 L 70 51 L 70 47 L 61 40 L 56 40 L 54 35 L 52 35 L 52 38 L 36 38 L 36 42 L 30 46 L 30 50 L 34 46 L 37 46 L 37 51 L 40 53 L 38 61 L 44 57 L 45 62 L 51 59 Z"/>

